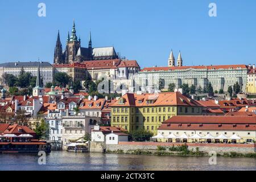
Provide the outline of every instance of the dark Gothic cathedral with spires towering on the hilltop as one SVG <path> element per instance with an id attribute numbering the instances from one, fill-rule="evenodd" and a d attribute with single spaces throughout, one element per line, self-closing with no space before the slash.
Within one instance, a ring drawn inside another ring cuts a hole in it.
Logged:
<path id="1" fill-rule="evenodd" d="M 89 36 L 88 48 L 81 47 L 81 39 L 77 38 L 76 36 L 75 21 L 73 22 L 71 36 L 68 32 L 65 51 L 62 49 L 62 44 L 60 42 L 60 32 L 58 32 L 54 51 L 54 64 L 81 63 L 82 61 L 112 59 L 119 59 L 119 56 L 115 52 L 114 47 L 93 48 L 91 34 Z"/>

